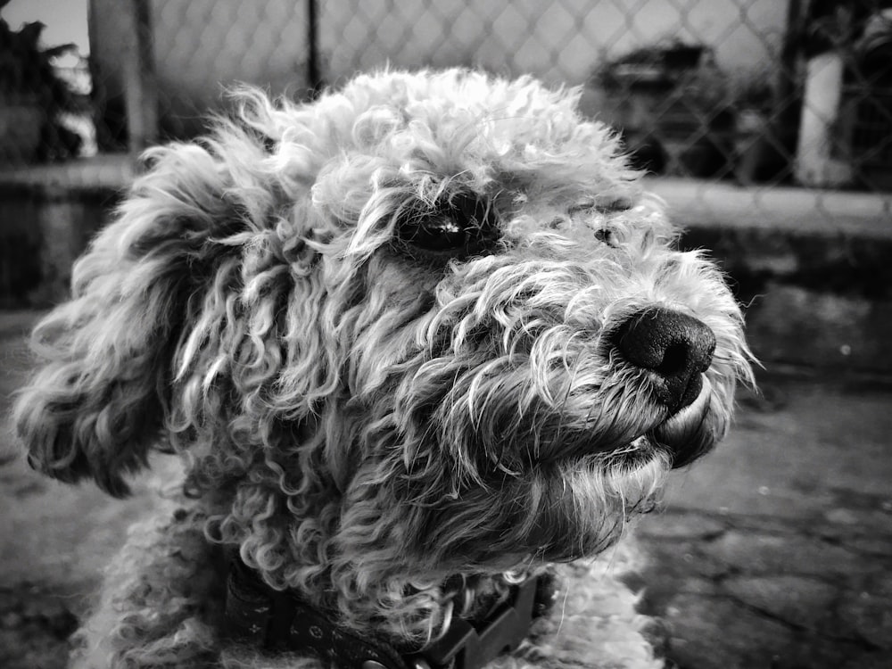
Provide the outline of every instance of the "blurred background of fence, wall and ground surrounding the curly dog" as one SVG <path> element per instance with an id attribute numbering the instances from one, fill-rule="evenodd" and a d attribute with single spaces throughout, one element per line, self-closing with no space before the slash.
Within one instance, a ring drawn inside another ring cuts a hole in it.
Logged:
<path id="1" fill-rule="evenodd" d="M 310 100 L 389 63 L 578 86 L 723 266 L 764 364 L 643 528 L 668 665 L 890 666 L 892 0 L 0 0 L 0 20 L 4 398 L 139 153 L 200 134 L 226 85 Z M 0 665 L 61 666 L 139 500 L 20 463 L 0 506 Z"/>

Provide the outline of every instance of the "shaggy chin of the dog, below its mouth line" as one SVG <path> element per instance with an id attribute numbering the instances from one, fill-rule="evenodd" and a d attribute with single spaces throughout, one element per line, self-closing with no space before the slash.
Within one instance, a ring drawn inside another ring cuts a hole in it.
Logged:
<path id="1" fill-rule="evenodd" d="M 610 460 L 591 454 L 504 475 L 485 487 L 417 508 L 413 556 L 427 571 L 566 562 L 618 541 L 633 516 L 655 508 L 671 467 L 647 437 Z"/>

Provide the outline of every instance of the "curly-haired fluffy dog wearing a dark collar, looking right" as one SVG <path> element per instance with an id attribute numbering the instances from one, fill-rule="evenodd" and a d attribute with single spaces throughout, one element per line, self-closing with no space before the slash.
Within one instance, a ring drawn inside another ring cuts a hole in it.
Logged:
<path id="1" fill-rule="evenodd" d="M 726 433 L 751 356 L 577 97 L 472 70 L 244 88 L 146 153 L 15 409 L 63 482 L 184 462 L 74 665 L 663 664 L 640 551 L 607 549 Z"/>

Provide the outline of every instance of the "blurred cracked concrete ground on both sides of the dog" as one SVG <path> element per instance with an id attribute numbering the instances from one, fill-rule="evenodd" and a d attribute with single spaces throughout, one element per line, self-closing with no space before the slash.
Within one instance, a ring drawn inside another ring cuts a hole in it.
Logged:
<path id="1" fill-rule="evenodd" d="M 0 311 L 0 401 L 32 311 Z M 669 666 L 892 666 L 892 384 L 764 376 L 731 436 L 640 524 Z M 0 453 L 11 442 L 4 423 Z M 0 667 L 62 667 L 99 569 L 145 507 L 0 466 Z"/>

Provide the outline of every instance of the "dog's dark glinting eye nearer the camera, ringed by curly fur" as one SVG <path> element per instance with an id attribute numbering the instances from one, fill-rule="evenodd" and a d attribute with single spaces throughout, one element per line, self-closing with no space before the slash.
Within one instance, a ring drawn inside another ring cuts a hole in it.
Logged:
<path id="1" fill-rule="evenodd" d="M 469 195 L 453 195 L 434 211 L 415 211 L 397 225 L 404 245 L 422 252 L 467 257 L 488 250 L 499 238 L 495 213 Z"/>

